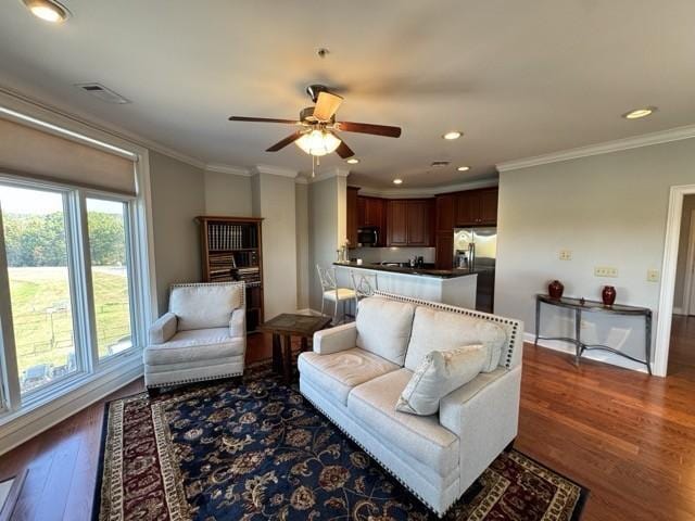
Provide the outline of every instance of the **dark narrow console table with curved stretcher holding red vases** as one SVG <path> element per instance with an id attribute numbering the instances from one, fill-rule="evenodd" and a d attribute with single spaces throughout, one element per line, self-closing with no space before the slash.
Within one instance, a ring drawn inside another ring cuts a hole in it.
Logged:
<path id="1" fill-rule="evenodd" d="M 566 309 L 574 310 L 574 338 L 570 339 L 567 336 L 541 336 L 541 304 L 547 304 L 549 306 L 564 307 Z M 609 347 L 607 345 L 602 344 L 584 344 L 581 340 L 581 330 L 582 330 L 582 313 L 605 313 L 610 315 L 623 315 L 623 316 L 639 316 L 644 317 L 644 352 L 645 359 L 640 360 L 639 358 L 634 358 L 630 355 L 627 355 L 618 350 Z M 535 345 L 538 345 L 539 340 L 563 340 L 565 342 L 570 342 L 574 344 L 577 350 L 576 354 L 576 363 L 579 365 L 579 359 L 582 356 L 584 351 L 608 351 L 610 353 L 615 353 L 616 355 L 622 356 L 623 358 L 628 358 L 633 361 L 637 361 L 640 364 L 644 364 L 647 366 L 647 371 L 652 374 L 652 309 L 646 307 L 636 307 L 636 306 L 624 306 L 620 304 L 615 304 L 612 306 L 606 306 L 602 302 L 597 301 L 586 301 L 583 298 L 573 298 L 573 297 L 561 297 L 561 298 L 553 298 L 549 295 L 545 295 L 539 293 L 535 295 Z"/>

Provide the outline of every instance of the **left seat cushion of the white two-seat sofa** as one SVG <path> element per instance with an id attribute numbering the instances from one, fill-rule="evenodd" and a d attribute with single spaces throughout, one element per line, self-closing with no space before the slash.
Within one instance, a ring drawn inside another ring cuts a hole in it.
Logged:
<path id="1" fill-rule="evenodd" d="M 302 379 L 342 405 L 348 404 L 348 395 L 355 385 L 400 369 L 400 366 L 358 347 L 330 355 L 302 353 L 298 367 Z"/>

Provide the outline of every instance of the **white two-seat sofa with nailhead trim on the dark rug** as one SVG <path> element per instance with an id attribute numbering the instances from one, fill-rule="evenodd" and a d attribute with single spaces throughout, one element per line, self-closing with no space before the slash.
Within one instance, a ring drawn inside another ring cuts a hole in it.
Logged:
<path id="1" fill-rule="evenodd" d="M 477 338 L 485 328 L 502 334 L 488 372 L 444 396 L 438 414 L 395 410 L 427 353 L 485 340 Z M 522 331 L 518 320 L 376 292 L 355 322 L 315 333 L 299 357 L 300 390 L 443 516 L 516 437 Z"/>

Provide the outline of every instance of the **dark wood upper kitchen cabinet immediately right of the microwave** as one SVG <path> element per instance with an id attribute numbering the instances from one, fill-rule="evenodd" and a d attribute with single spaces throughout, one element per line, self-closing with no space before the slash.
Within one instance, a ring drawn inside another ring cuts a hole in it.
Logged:
<path id="1" fill-rule="evenodd" d="M 389 246 L 430 246 L 433 204 L 429 199 L 387 202 Z"/>

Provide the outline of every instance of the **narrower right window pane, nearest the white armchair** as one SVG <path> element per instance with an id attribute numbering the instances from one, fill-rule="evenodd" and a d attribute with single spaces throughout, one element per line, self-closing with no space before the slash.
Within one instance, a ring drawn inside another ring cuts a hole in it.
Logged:
<path id="1" fill-rule="evenodd" d="M 127 204 L 87 199 L 92 298 L 99 358 L 132 347 Z"/>

